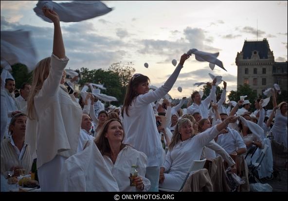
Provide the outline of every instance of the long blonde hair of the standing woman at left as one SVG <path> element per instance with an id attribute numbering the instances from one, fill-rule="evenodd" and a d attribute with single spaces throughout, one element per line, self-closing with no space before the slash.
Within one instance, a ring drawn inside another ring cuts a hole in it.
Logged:
<path id="1" fill-rule="evenodd" d="M 35 119 L 34 96 L 42 89 L 45 79 L 50 72 L 51 57 L 47 57 L 39 61 L 33 71 L 33 79 L 31 85 L 31 93 L 27 100 L 27 110 L 29 119 Z"/>

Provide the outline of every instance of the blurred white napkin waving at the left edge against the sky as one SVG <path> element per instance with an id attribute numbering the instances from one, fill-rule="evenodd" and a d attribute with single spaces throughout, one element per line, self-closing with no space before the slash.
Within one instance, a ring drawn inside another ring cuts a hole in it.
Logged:
<path id="1" fill-rule="evenodd" d="M 36 51 L 28 31 L 1 31 L 1 65 L 12 70 L 11 66 L 22 63 L 28 72 L 35 69 Z M 10 67 L 9 67 L 10 65 Z"/>

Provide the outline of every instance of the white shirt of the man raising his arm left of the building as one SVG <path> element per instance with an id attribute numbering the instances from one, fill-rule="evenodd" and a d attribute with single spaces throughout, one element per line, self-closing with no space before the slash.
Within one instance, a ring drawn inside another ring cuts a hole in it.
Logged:
<path id="1" fill-rule="evenodd" d="M 187 108 L 188 114 L 194 114 L 195 112 L 199 112 L 204 119 L 208 119 L 208 107 L 210 102 L 216 96 L 216 86 L 212 86 L 212 90 L 207 98 L 201 101 L 200 105 L 193 103 L 189 108 Z"/>

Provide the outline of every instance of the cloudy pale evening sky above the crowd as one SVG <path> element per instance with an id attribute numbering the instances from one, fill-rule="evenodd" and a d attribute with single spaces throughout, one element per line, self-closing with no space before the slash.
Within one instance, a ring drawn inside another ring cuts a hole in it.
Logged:
<path id="1" fill-rule="evenodd" d="M 55 1 L 64 2 L 64 1 Z M 66 1 L 67 2 L 67 1 Z M 67 68 L 108 69 L 115 62 L 133 62 L 151 85 L 160 87 L 174 71 L 172 59 L 192 48 L 216 53 L 227 72 L 192 55 L 169 92 L 190 96 L 195 82 L 222 75 L 227 90 L 236 90 L 235 57 L 245 39 L 267 38 L 276 61 L 287 61 L 287 1 L 113 1 L 108 14 L 81 22 L 61 22 Z M 37 1 L 2 1 L 1 31 L 31 31 L 38 59 L 51 55 L 53 24 L 37 17 Z M 144 63 L 149 67 L 145 68 Z M 222 84 L 220 84 L 222 87 Z M 183 91 L 177 91 L 178 87 Z"/>

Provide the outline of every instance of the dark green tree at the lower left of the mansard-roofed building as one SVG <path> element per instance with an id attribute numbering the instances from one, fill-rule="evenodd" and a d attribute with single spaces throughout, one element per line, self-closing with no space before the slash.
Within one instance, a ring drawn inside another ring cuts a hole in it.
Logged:
<path id="1" fill-rule="evenodd" d="M 247 95 L 248 97 L 245 98 L 249 100 L 251 103 L 251 111 L 255 110 L 254 102 L 257 98 L 257 94 L 253 92 L 248 84 L 240 85 L 237 88 L 237 91 L 231 91 L 228 95 L 230 101 L 238 102 L 240 100 L 240 96 Z"/>

